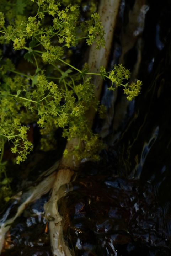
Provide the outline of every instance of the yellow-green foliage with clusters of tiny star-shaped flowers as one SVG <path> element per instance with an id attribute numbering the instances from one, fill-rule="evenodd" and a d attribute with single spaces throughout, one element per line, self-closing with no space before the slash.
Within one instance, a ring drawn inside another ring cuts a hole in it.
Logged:
<path id="1" fill-rule="evenodd" d="M 25 161 L 27 154 L 32 151 L 33 145 L 27 138 L 27 132 L 33 122 L 40 127 L 42 150 L 52 149 L 54 132 L 62 128 L 63 136 L 68 140 L 79 137 L 80 143 L 84 143 L 84 151 L 80 151 L 79 145 L 75 147 L 77 158 L 92 155 L 97 158 L 98 136 L 89 129 L 85 117 L 90 106 L 96 110 L 100 106 L 94 97 L 92 75 L 111 80 L 110 90 L 124 86 L 128 100 L 132 100 L 140 91 L 140 81 L 131 85 L 123 84 L 130 74 L 122 65 L 114 66 L 110 72 L 101 67 L 98 74 L 93 74 L 71 64 L 69 51 L 81 40 L 86 40 L 87 45 L 96 42 L 97 48 L 105 44 L 100 17 L 90 11 L 95 5 L 91 5 L 88 18 L 82 18 L 77 5 L 80 2 L 1 2 L 0 43 L 9 47 L 12 42 L 14 51 L 20 55 L 20 66 L 26 67 L 18 68 L 1 52 L 1 174 L 6 175 L 2 161 L 5 143 L 9 143 L 17 164 Z M 99 108 L 101 114 L 102 109 Z"/>

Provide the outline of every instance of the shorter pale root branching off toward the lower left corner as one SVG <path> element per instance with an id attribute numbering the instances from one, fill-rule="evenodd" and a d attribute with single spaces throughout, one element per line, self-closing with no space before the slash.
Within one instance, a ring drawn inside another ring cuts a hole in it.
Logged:
<path id="1" fill-rule="evenodd" d="M 35 182 L 35 186 L 32 186 L 25 193 L 19 192 L 16 194 L 13 199 L 16 199 L 16 203 L 20 204 L 18 207 L 17 213 L 11 217 L 7 218 L 9 215 L 9 209 L 6 210 L 4 216 L 0 221 L 0 254 L 4 245 L 5 234 L 10 229 L 10 226 L 15 221 L 15 219 L 22 214 L 22 212 L 26 209 L 27 205 L 39 199 L 42 195 L 48 193 L 50 189 L 53 187 L 56 172 L 59 165 L 59 161 L 55 162 L 55 164 L 50 167 L 48 170 L 43 172 L 43 174 L 39 177 L 38 181 Z M 43 181 L 40 181 L 42 180 Z M 39 182 L 37 184 L 37 182 Z"/>

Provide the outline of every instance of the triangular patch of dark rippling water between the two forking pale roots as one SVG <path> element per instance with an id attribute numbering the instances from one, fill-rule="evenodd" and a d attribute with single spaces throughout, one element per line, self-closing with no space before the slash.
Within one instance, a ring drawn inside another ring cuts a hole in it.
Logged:
<path id="1" fill-rule="evenodd" d="M 42 196 L 15 220 L 6 234 L 1 256 L 52 256 L 43 209 L 47 200 L 48 195 Z"/>

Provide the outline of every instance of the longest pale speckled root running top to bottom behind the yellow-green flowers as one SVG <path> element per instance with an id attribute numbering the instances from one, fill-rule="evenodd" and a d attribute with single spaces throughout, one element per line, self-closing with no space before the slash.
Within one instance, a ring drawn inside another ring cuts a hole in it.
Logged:
<path id="1" fill-rule="evenodd" d="M 105 48 L 101 48 L 100 50 L 96 50 L 96 45 L 93 44 L 90 53 L 89 53 L 89 61 L 88 65 L 90 68 L 90 72 L 97 73 L 99 72 L 100 66 L 107 66 L 108 58 L 111 51 L 115 21 L 118 14 L 120 0 L 101 0 L 100 6 L 98 9 L 98 13 L 101 16 L 102 25 L 105 30 Z M 92 82 L 95 84 L 95 96 L 100 99 L 102 84 L 103 81 L 100 76 L 94 76 L 92 78 Z M 89 127 L 92 127 L 93 120 L 95 117 L 95 110 L 91 108 L 88 111 L 87 120 L 89 122 Z M 75 145 L 78 145 L 79 139 L 74 138 L 70 140 L 66 149 L 69 152 L 72 152 Z M 50 239 L 52 245 L 52 252 L 54 256 L 71 256 L 74 255 L 74 252 L 70 251 L 68 246 L 66 245 L 63 238 L 63 230 L 62 230 L 62 217 L 58 212 L 58 200 L 67 192 L 66 187 L 59 188 L 59 184 L 67 184 L 70 182 L 71 177 L 74 174 L 74 171 L 79 167 L 80 162 L 75 162 L 73 156 L 68 159 L 62 158 L 59 171 L 57 173 L 57 178 L 55 181 L 55 185 L 53 187 L 52 197 L 50 201 L 46 204 L 46 217 L 50 218 L 49 222 L 49 230 L 50 230 Z M 60 190 L 60 191 L 59 191 Z"/>

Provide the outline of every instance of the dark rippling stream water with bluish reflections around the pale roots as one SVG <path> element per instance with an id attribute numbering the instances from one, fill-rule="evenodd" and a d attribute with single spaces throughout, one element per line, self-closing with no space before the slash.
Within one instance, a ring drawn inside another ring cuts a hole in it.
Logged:
<path id="1" fill-rule="evenodd" d="M 139 17 L 132 38 L 130 14 Z M 170 16 L 169 0 L 121 1 L 110 63 L 122 60 L 143 87 L 130 103 L 122 90 L 113 96 L 104 89 L 109 117 L 97 120 L 94 129 L 105 133 L 107 148 L 100 162 L 82 163 L 58 201 L 64 239 L 76 256 L 171 255 Z M 32 202 L 15 219 L 1 256 L 52 255 L 43 208 L 49 197 Z M 10 201 L 1 222 L 17 203 Z"/>

